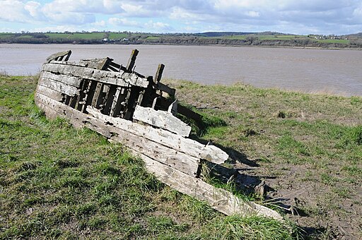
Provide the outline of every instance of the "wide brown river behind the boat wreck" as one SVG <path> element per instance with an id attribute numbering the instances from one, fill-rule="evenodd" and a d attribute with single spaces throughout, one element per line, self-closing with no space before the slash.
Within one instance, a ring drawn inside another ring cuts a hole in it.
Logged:
<path id="1" fill-rule="evenodd" d="M 34 75 L 47 56 L 71 49 L 70 61 L 109 56 L 126 65 L 139 49 L 136 71 L 204 84 L 243 82 L 261 88 L 362 96 L 362 51 L 170 45 L 0 44 L 0 72 Z"/>

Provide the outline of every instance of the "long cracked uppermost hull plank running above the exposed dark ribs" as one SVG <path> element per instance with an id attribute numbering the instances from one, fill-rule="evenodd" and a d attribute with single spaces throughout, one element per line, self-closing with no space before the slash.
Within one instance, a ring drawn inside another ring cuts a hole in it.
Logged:
<path id="1" fill-rule="evenodd" d="M 84 68 L 81 66 L 54 64 L 53 62 L 49 64 L 44 64 L 42 66 L 42 71 L 75 76 L 78 78 L 85 78 L 89 80 L 97 80 L 101 83 L 107 83 L 121 87 L 128 87 L 129 85 L 134 85 L 141 88 L 147 88 L 148 85 L 148 80 L 146 78 L 140 78 L 134 73 L 102 71 L 94 68 Z"/>

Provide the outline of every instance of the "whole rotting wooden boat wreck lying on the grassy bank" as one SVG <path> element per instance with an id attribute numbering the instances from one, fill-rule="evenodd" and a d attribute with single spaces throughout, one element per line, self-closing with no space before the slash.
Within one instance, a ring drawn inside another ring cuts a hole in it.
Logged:
<path id="1" fill-rule="evenodd" d="M 108 57 L 71 62 L 70 50 L 52 54 L 42 66 L 35 103 L 50 119 L 64 117 L 77 128 L 91 128 L 126 145 L 160 181 L 226 215 L 282 220 L 274 210 L 202 181 L 202 161 L 221 164 L 228 155 L 188 138 L 191 127 L 175 115 L 196 122 L 202 116 L 177 104 L 175 89 L 160 83 L 163 64 L 154 78 L 136 73 L 137 54 L 134 49 L 127 66 Z"/>

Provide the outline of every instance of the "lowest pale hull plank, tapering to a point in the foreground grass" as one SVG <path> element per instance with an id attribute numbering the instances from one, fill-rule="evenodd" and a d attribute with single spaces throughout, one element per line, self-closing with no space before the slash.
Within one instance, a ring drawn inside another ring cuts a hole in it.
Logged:
<path id="1" fill-rule="evenodd" d="M 166 166 L 155 161 L 151 157 L 134 152 L 139 155 L 146 163 L 148 172 L 154 174 L 157 179 L 164 184 L 193 196 L 202 201 L 206 201 L 211 208 L 223 212 L 226 215 L 259 215 L 262 217 L 271 217 L 275 220 L 283 221 L 283 217 L 278 212 L 253 202 L 246 202 L 221 188 L 215 188 L 210 184 L 206 184 L 202 179 L 197 179 L 185 173 L 178 171 L 172 167 Z"/>

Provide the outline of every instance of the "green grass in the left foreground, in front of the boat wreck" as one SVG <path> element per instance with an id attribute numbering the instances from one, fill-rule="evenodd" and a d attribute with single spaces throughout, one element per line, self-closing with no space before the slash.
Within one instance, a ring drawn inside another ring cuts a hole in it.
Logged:
<path id="1" fill-rule="evenodd" d="M 49 121 L 34 104 L 35 85 L 0 76 L 0 239 L 298 236 L 290 223 L 225 217 L 161 184 L 122 145 Z"/>

